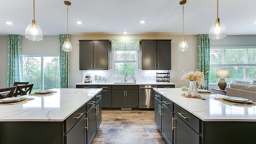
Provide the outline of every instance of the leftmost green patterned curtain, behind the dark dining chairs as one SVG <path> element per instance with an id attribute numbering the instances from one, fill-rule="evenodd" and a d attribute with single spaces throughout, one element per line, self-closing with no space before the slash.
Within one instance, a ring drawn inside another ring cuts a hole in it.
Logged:
<path id="1" fill-rule="evenodd" d="M 9 35 L 7 87 L 13 86 L 13 82 L 15 81 L 22 81 L 21 36 Z"/>

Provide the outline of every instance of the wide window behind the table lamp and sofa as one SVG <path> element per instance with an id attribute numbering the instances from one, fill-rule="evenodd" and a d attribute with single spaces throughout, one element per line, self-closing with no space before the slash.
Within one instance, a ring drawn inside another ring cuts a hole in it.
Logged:
<path id="1" fill-rule="evenodd" d="M 209 83 L 218 83 L 215 78 L 216 69 L 230 70 L 232 80 L 256 79 L 256 47 L 255 46 L 226 46 L 210 48 L 210 78 Z"/>

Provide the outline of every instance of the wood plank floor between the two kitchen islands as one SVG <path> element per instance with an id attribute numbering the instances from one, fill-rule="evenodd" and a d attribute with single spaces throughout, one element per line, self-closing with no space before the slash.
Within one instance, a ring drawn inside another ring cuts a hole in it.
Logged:
<path id="1" fill-rule="evenodd" d="M 102 110 L 92 144 L 167 144 L 154 122 L 154 110 Z"/>

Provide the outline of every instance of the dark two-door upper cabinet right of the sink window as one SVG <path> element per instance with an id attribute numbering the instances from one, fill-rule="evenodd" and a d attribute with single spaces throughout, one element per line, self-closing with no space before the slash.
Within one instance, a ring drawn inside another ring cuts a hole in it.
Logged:
<path id="1" fill-rule="evenodd" d="M 141 40 L 142 70 L 170 70 L 171 41 Z"/>

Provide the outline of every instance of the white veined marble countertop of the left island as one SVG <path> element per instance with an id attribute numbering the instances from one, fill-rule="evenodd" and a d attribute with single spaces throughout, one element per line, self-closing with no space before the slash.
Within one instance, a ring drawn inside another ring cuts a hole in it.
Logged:
<path id="1" fill-rule="evenodd" d="M 25 95 L 34 98 L 20 104 L 0 105 L 0 122 L 10 121 L 64 121 L 102 88 L 54 88 L 48 96 Z"/>

